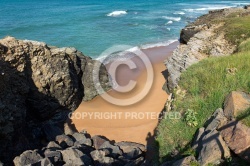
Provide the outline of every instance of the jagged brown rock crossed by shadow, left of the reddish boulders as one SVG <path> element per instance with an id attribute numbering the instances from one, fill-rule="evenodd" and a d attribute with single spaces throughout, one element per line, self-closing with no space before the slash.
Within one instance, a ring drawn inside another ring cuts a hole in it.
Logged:
<path id="1" fill-rule="evenodd" d="M 223 109 L 217 109 L 207 122 L 206 128 L 200 128 L 194 137 L 192 148 L 198 153 L 201 165 L 218 164 L 231 156 L 229 148 L 218 129 L 227 123 Z"/>

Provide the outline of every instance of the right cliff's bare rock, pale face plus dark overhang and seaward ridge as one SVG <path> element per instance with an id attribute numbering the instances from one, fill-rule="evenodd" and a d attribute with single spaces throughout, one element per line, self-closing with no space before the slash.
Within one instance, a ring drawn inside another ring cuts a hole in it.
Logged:
<path id="1" fill-rule="evenodd" d="M 164 90 L 172 92 L 178 85 L 181 73 L 192 64 L 209 56 L 230 55 L 236 50 L 236 46 L 225 39 L 225 34 L 217 33 L 223 22 L 213 22 L 214 19 L 220 20 L 232 13 L 243 15 L 249 13 L 249 10 L 230 8 L 210 11 L 182 29 L 181 44 L 174 50 L 173 55 L 165 60 L 168 74 Z"/>

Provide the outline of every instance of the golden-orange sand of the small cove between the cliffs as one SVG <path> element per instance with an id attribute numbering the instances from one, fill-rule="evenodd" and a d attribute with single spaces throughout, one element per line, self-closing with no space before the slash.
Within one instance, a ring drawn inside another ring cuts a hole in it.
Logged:
<path id="1" fill-rule="evenodd" d="M 118 106 L 97 96 L 89 102 L 82 102 L 72 116 L 72 123 L 78 131 L 86 130 L 90 135 L 104 135 L 110 140 L 132 141 L 146 144 L 154 135 L 158 124 L 158 114 L 162 111 L 168 98 L 162 86 L 165 83 L 163 71 L 166 70 L 163 61 L 171 56 L 178 42 L 169 46 L 156 47 L 142 50 L 147 55 L 153 66 L 153 84 L 147 95 L 139 102 Z M 120 65 L 116 69 L 116 81 L 120 86 L 125 86 L 130 80 L 136 81 L 136 86 L 129 92 L 110 90 L 107 94 L 118 99 L 131 99 L 144 90 L 147 82 L 146 66 L 139 57 L 131 59 L 136 64 L 136 69 L 127 65 Z M 112 70 L 107 65 L 108 71 Z M 80 117 L 81 115 L 81 117 Z"/>

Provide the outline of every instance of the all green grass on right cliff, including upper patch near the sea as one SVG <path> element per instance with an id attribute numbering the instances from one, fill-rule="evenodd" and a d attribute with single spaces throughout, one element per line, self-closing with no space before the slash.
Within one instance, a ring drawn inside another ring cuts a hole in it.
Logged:
<path id="1" fill-rule="evenodd" d="M 234 13 L 227 18 L 209 19 L 210 23 L 224 22 L 217 33 L 224 33 L 230 43 L 237 45 L 238 53 L 210 57 L 192 65 L 182 74 L 179 87 L 174 92 L 172 111 L 183 116 L 175 120 L 163 119 L 158 125 L 156 141 L 160 162 L 171 158 L 176 151 L 179 157 L 195 155 L 190 143 L 196 130 L 204 126 L 217 108 L 223 107 L 226 95 L 234 90 L 250 92 L 250 15 L 239 15 Z M 246 114 L 250 114 L 250 109 L 239 118 Z M 250 116 L 242 121 L 250 126 Z"/>

